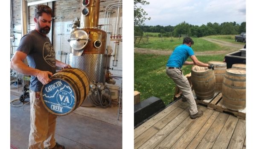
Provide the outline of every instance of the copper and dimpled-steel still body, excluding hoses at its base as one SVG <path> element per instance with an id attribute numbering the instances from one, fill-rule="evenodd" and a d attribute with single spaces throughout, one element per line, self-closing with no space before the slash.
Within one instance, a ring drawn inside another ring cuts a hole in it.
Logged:
<path id="1" fill-rule="evenodd" d="M 80 27 L 70 33 L 72 53 L 68 63 L 84 70 L 91 83 L 105 84 L 110 55 L 107 54 L 107 33 L 99 29 L 99 0 L 81 0 Z"/>

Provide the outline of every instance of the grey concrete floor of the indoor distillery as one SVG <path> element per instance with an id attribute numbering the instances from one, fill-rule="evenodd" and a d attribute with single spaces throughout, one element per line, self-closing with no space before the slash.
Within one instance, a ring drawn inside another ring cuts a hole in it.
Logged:
<path id="1" fill-rule="evenodd" d="M 10 99 L 19 98 L 21 86 L 11 85 Z M 30 105 L 27 98 L 20 107 L 11 106 L 11 149 L 28 148 Z M 28 103 L 28 104 L 26 104 Z M 57 118 L 55 139 L 66 149 L 122 149 L 122 113 L 118 105 L 107 109 L 80 106 L 69 115 Z"/>

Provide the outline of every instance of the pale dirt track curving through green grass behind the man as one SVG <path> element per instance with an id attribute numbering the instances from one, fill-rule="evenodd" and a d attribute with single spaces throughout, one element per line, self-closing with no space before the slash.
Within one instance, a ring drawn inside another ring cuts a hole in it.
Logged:
<path id="1" fill-rule="evenodd" d="M 217 43 L 221 46 L 231 47 L 229 51 L 227 51 L 227 50 L 218 51 L 218 54 L 225 54 L 227 52 L 237 51 L 238 49 L 241 49 L 241 48 L 244 47 L 244 45 L 230 43 L 230 42 L 222 41 L 222 40 L 216 40 L 216 39 L 210 39 L 210 38 L 203 38 L 203 39 L 207 40 L 209 42 L 212 42 L 212 43 Z M 134 48 L 134 52 L 135 53 L 140 53 L 140 54 L 156 54 L 156 55 L 170 55 L 170 54 L 172 54 L 172 51 L 166 51 L 166 50 L 162 50 L 162 49 Z M 215 54 L 215 51 L 195 52 L 195 55 L 209 55 L 209 54 Z"/>

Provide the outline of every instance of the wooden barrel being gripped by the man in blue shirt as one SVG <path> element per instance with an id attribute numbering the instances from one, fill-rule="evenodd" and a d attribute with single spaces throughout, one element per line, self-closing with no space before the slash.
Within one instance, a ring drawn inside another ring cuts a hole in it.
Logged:
<path id="1" fill-rule="evenodd" d="M 192 66 L 191 82 L 195 95 L 202 100 L 210 99 L 215 92 L 215 75 L 212 69 L 207 67 Z"/>

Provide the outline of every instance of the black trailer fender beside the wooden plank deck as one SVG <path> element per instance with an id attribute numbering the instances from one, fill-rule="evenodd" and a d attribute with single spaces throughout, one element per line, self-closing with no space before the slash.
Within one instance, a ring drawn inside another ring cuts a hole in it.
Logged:
<path id="1" fill-rule="evenodd" d="M 151 117 L 155 113 L 165 108 L 163 100 L 157 97 L 149 97 L 146 100 L 141 101 L 134 105 L 134 126 L 137 126 L 143 120 Z"/>

